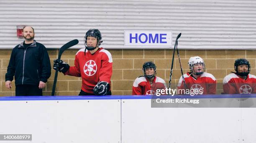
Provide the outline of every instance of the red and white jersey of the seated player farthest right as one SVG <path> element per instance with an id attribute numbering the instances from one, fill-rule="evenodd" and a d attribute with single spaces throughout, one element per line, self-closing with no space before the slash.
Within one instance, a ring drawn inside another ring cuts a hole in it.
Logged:
<path id="1" fill-rule="evenodd" d="M 244 80 L 235 73 L 228 74 L 223 79 L 224 94 L 256 94 L 256 76 L 248 74 Z"/>

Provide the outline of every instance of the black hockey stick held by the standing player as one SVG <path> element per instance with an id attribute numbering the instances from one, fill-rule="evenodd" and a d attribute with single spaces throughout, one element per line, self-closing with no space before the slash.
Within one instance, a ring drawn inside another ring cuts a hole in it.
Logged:
<path id="1" fill-rule="evenodd" d="M 66 49 L 68 49 L 68 48 L 70 48 L 70 47 L 72 47 L 72 46 L 74 46 L 74 45 L 76 45 L 76 44 L 78 44 L 78 40 L 77 40 L 77 39 L 74 39 L 74 40 L 69 41 L 69 42 L 67 42 L 66 44 L 64 44 L 64 45 L 59 49 L 59 56 L 58 56 L 58 59 L 61 58 L 62 53 L 63 53 Z M 54 92 L 55 92 L 55 88 L 56 88 L 56 82 L 57 82 L 57 77 L 58 77 L 58 70 L 55 71 L 54 84 L 53 84 L 53 86 L 52 86 L 51 96 L 54 96 Z"/>

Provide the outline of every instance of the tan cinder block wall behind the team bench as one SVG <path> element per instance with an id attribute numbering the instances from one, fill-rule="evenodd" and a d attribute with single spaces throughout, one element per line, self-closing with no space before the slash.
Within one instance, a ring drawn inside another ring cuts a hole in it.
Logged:
<path id="1" fill-rule="evenodd" d="M 69 49 L 64 52 L 61 59 L 67 61 L 70 66 L 74 65 L 74 57 L 78 49 Z M 172 49 L 109 49 L 113 57 L 113 75 L 111 78 L 111 88 L 113 95 L 131 95 L 132 85 L 136 77 L 143 75 L 142 65 L 146 61 L 153 61 L 157 67 L 157 76 L 169 82 L 170 67 L 172 63 Z M 57 58 L 57 49 L 49 49 L 51 59 Z M 234 61 L 237 58 L 246 58 L 251 63 L 251 74 L 256 74 L 256 50 L 180 50 L 180 58 L 183 72 L 188 72 L 188 59 L 192 56 L 200 56 L 205 60 L 207 72 L 213 74 L 217 79 L 217 93 L 222 92 L 222 81 L 225 75 L 234 71 Z M 15 96 L 15 84 L 11 90 L 5 88 L 5 73 L 8 67 L 11 49 L 0 50 L 0 96 Z M 177 55 L 174 59 L 174 70 L 172 76 L 172 88 L 181 76 L 179 60 Z M 51 95 L 52 84 L 55 71 L 51 71 L 46 88 L 43 89 L 44 95 Z M 56 95 L 78 95 L 81 89 L 81 78 L 74 76 L 64 76 L 59 73 L 56 85 Z"/>

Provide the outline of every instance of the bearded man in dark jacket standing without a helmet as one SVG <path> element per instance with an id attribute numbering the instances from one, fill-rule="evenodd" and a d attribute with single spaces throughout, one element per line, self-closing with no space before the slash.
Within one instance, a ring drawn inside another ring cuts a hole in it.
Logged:
<path id="1" fill-rule="evenodd" d="M 16 96 L 42 96 L 42 89 L 51 76 L 51 64 L 46 47 L 34 40 L 33 27 L 23 28 L 24 41 L 13 48 L 5 86 L 12 88 L 15 76 Z"/>

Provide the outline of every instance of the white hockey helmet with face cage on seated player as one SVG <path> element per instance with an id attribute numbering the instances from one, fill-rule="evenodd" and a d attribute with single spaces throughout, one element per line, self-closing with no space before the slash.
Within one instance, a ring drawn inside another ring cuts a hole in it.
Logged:
<path id="1" fill-rule="evenodd" d="M 195 65 L 195 64 L 199 64 L 199 63 L 202 63 L 202 66 L 203 66 L 203 69 L 201 69 L 201 72 L 198 72 L 197 70 L 196 70 L 196 71 L 194 70 L 194 65 Z M 199 56 L 190 57 L 190 58 L 189 58 L 188 65 L 189 65 L 189 69 L 191 70 L 191 72 L 192 72 L 193 74 L 200 75 L 200 74 L 203 74 L 203 73 L 205 72 L 205 62 L 204 62 L 204 60 L 203 60 L 201 57 L 199 57 Z"/>

